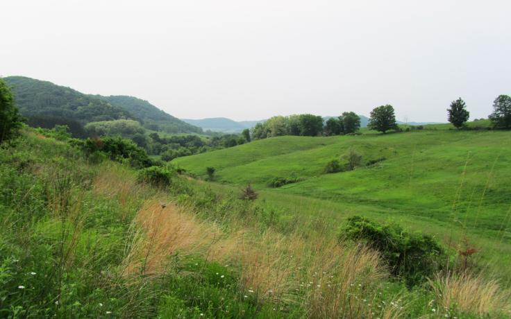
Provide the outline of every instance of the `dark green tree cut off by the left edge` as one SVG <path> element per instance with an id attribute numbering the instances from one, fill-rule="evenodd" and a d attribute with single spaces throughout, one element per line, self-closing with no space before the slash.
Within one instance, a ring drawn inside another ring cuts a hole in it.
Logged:
<path id="1" fill-rule="evenodd" d="M 0 78 L 0 143 L 17 134 L 22 126 L 22 117 L 14 103 L 7 84 Z"/>

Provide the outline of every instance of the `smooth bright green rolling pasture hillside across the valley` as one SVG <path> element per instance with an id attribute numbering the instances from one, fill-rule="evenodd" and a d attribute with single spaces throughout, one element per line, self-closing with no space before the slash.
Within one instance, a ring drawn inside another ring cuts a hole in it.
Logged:
<path id="1" fill-rule="evenodd" d="M 251 182 L 262 198 L 292 214 L 322 215 L 339 223 L 353 214 L 392 218 L 454 245 L 467 236 L 481 261 L 510 284 L 511 132 L 449 130 L 444 124 L 427 128 L 315 137 L 315 147 L 301 150 L 292 147 L 300 137 L 275 137 L 175 162 L 199 176 L 214 166 L 220 183 Z M 285 151 L 289 148 L 295 150 Z M 349 148 L 362 154 L 362 165 L 325 174 L 326 163 Z M 365 165 L 381 157 L 385 160 Z M 221 164 L 223 159 L 227 164 Z M 301 181 L 267 186 L 271 178 L 290 175 Z"/>

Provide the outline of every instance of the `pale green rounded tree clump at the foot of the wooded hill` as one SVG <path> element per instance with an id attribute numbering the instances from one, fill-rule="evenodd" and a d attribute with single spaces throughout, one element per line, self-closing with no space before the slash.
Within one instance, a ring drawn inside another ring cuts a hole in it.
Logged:
<path id="1" fill-rule="evenodd" d="M 119 119 L 114 121 L 90 122 L 85 125 L 87 135 L 100 137 L 104 135 L 121 135 L 132 137 L 135 134 L 143 134 L 144 128 L 140 123 L 133 120 Z"/>

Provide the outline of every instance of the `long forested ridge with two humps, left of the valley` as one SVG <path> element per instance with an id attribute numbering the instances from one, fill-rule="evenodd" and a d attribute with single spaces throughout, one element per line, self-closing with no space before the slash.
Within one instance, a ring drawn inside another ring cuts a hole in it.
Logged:
<path id="1" fill-rule="evenodd" d="M 87 95 L 69 87 L 24 76 L 8 76 L 3 80 L 12 87 L 19 111 L 33 126 L 70 126 L 74 124 L 72 121 L 83 125 L 97 121 L 134 119 L 150 130 L 202 132 L 201 128 L 176 119 L 140 98 Z"/>

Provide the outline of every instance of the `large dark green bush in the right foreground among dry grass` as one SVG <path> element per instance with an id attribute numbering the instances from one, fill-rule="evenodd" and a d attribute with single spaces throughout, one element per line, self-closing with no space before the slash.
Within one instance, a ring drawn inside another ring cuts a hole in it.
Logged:
<path id="1" fill-rule="evenodd" d="M 341 239 L 345 236 L 378 250 L 391 273 L 409 286 L 424 282 L 446 262 L 444 248 L 432 236 L 405 232 L 395 223 L 380 225 L 353 216 L 340 234 Z"/>

